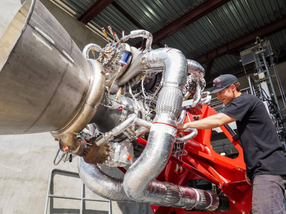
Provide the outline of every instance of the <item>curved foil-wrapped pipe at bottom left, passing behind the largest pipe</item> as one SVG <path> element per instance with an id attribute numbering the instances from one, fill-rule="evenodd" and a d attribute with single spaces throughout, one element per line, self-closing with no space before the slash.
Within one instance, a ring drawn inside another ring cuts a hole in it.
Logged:
<path id="1" fill-rule="evenodd" d="M 77 168 L 83 183 L 95 194 L 112 201 L 134 202 L 124 192 L 123 179 L 109 176 L 97 165 L 87 164 L 84 161 L 80 162 Z"/>

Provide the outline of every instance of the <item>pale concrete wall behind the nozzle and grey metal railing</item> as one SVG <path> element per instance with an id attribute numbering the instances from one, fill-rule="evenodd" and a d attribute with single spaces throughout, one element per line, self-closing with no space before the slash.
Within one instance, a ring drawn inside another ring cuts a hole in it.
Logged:
<path id="1" fill-rule="evenodd" d="M 17 13 L 23 0 L 1 0 L 0 37 Z M 63 25 L 82 50 L 88 43 L 105 46 L 106 42 L 85 25 L 61 10 L 49 0 L 42 3 Z M 1 49 L 0 49 L 1 51 Z M 0 135 L 0 214 L 44 213 L 49 173 L 54 168 L 77 172 L 77 159 L 73 162 L 52 164 L 58 142 L 49 133 Z M 117 168 L 104 168 L 112 176 L 123 178 Z M 51 194 L 80 197 L 81 180 L 78 176 L 55 173 L 52 177 Z M 85 197 L 102 199 L 85 188 Z M 80 201 L 50 199 L 48 213 L 80 213 Z M 86 201 L 86 214 L 107 214 L 108 203 Z M 149 205 L 112 202 L 112 213 L 153 213 Z"/>

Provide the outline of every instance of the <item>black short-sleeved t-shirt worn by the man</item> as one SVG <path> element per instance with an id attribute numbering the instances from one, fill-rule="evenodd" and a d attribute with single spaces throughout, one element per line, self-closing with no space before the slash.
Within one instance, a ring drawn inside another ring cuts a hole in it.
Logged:
<path id="1" fill-rule="evenodd" d="M 246 174 L 286 174 L 286 158 L 264 103 L 251 94 L 236 97 L 222 113 L 237 119 Z"/>

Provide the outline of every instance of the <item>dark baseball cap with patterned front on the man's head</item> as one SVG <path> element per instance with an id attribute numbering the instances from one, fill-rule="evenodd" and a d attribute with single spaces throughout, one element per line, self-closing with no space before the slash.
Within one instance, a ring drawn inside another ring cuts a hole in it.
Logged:
<path id="1" fill-rule="evenodd" d="M 219 77 L 215 78 L 212 81 L 214 90 L 210 94 L 215 94 L 217 92 L 220 92 L 223 89 L 225 89 L 227 86 L 230 86 L 237 82 L 238 82 L 238 79 L 234 75 L 231 75 L 231 74 L 220 75 Z"/>

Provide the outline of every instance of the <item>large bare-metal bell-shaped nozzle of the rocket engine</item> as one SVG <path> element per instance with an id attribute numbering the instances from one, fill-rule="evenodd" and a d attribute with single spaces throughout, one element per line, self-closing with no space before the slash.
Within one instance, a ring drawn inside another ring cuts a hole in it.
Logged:
<path id="1" fill-rule="evenodd" d="M 0 46 L 0 134 L 60 130 L 80 114 L 91 68 L 40 1 L 25 1 Z"/>

